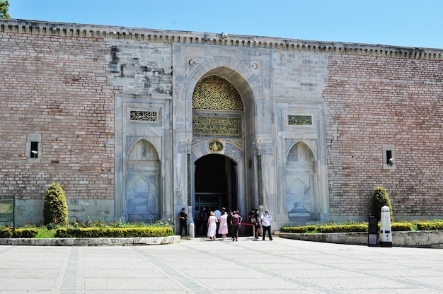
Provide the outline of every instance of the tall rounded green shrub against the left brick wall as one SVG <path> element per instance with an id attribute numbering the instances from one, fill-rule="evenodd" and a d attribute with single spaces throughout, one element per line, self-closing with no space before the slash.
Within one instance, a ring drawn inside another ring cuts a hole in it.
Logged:
<path id="1" fill-rule="evenodd" d="M 50 184 L 45 192 L 45 202 L 43 204 L 43 224 L 67 225 L 68 223 L 68 206 L 64 191 L 60 183 L 55 182 Z"/>

